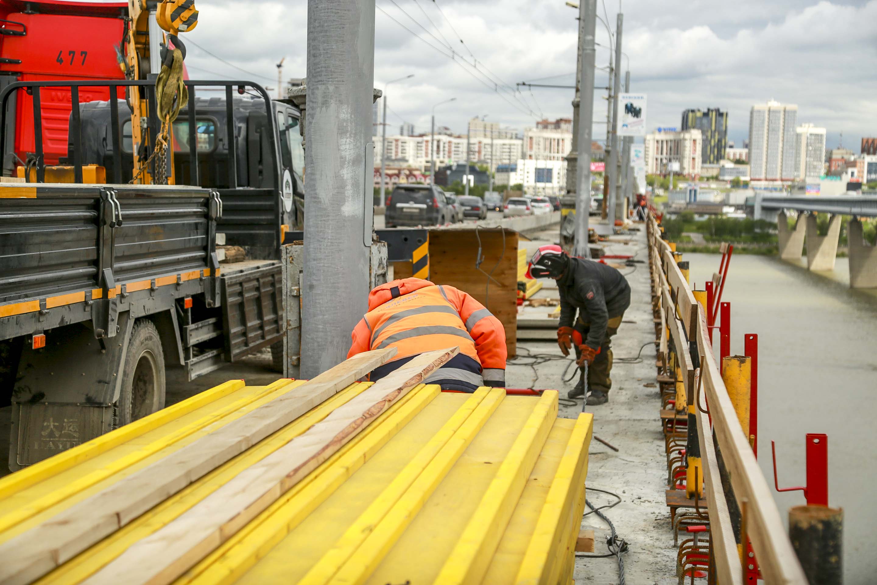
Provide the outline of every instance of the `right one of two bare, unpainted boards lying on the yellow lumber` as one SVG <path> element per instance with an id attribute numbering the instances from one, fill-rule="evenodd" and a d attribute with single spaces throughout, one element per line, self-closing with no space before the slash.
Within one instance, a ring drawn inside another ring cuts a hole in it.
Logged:
<path id="1" fill-rule="evenodd" d="M 458 347 L 453 347 L 421 353 L 303 435 L 248 467 L 182 516 L 139 540 L 83 582 L 116 585 L 174 581 L 458 351 Z"/>

